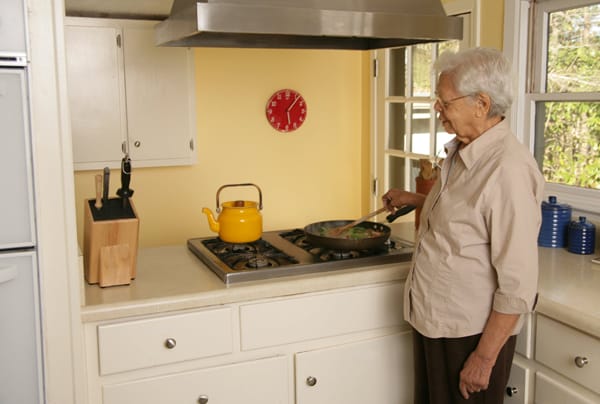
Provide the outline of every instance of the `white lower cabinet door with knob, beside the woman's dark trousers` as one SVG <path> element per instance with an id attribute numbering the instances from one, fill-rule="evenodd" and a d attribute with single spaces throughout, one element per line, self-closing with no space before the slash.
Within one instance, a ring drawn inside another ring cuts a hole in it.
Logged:
<path id="1" fill-rule="evenodd" d="M 296 355 L 297 404 L 411 403 L 412 335 Z"/>

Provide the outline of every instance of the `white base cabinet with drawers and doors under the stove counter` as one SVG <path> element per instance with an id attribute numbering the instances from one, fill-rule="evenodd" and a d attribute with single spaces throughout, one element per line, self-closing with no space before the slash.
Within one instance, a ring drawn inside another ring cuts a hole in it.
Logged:
<path id="1" fill-rule="evenodd" d="M 402 294 L 389 282 L 89 322 L 88 404 L 410 402 Z"/>

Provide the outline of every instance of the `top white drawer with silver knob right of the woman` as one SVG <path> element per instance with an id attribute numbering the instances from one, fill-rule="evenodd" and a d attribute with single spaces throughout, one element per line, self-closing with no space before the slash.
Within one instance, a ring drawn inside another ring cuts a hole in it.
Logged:
<path id="1" fill-rule="evenodd" d="M 579 358 L 579 359 L 578 359 Z M 585 358 L 585 365 L 576 361 Z M 600 340 L 547 317 L 537 316 L 535 359 L 600 393 Z"/>

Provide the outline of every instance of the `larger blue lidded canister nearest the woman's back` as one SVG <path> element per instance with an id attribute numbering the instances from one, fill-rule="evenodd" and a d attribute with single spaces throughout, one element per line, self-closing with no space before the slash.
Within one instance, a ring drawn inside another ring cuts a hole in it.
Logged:
<path id="1" fill-rule="evenodd" d="M 558 203 L 556 196 L 550 196 L 548 202 L 542 202 L 542 226 L 538 235 L 538 245 L 566 247 L 571 213 L 571 206 Z"/>

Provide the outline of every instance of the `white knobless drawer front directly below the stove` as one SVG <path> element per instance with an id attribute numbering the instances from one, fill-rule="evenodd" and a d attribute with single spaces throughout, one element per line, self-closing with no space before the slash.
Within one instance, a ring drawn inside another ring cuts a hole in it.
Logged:
<path id="1" fill-rule="evenodd" d="M 242 349 L 400 326 L 403 289 L 394 283 L 244 305 Z"/>

